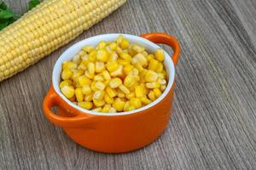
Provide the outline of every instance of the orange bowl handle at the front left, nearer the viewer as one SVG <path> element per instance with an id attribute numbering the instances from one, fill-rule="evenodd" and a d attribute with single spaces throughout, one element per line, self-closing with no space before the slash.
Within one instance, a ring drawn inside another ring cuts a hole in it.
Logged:
<path id="1" fill-rule="evenodd" d="M 65 111 L 70 112 L 74 116 L 58 116 L 55 115 L 50 109 L 54 106 L 61 106 Z M 53 86 L 49 88 L 48 94 L 44 98 L 44 115 L 49 119 L 50 122 L 55 123 L 57 126 L 61 127 L 91 127 L 91 118 L 93 116 L 88 116 L 83 113 L 79 113 L 72 106 L 67 105 L 67 103 L 61 99 L 61 97 L 55 93 Z"/>

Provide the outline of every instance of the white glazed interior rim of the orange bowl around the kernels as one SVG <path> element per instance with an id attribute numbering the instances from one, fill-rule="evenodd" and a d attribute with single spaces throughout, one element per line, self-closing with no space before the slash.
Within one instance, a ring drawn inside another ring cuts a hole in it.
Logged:
<path id="1" fill-rule="evenodd" d="M 172 58 L 170 57 L 169 54 L 166 53 L 166 51 L 165 51 L 165 60 L 164 60 L 164 65 L 165 65 L 165 68 L 166 68 L 166 74 L 167 74 L 167 77 L 168 77 L 168 84 L 167 84 L 166 90 L 164 91 L 163 94 L 160 95 L 160 97 L 158 99 L 154 100 L 149 105 L 145 105 L 145 106 L 143 106 L 143 107 L 141 107 L 137 110 L 117 112 L 117 113 L 102 113 L 102 112 L 96 112 L 96 111 L 89 111 L 89 110 L 85 110 L 85 109 L 79 107 L 78 105 L 73 104 L 63 94 L 61 94 L 61 90 L 59 88 L 59 83 L 61 81 L 61 65 L 62 65 L 63 61 L 73 59 L 73 56 L 75 54 L 78 54 L 79 51 L 85 45 L 96 46 L 96 44 L 100 41 L 106 41 L 106 42 L 113 41 L 115 38 L 119 37 L 119 35 L 120 34 L 103 34 L 103 35 L 99 35 L 99 36 L 95 36 L 95 37 L 86 38 L 83 41 L 75 43 L 70 48 L 67 48 L 67 50 L 63 54 L 61 54 L 60 58 L 57 59 L 57 61 L 55 63 L 54 70 L 53 70 L 53 74 L 52 74 L 53 86 L 54 86 L 55 92 L 57 94 L 59 94 L 61 96 L 61 98 L 64 99 L 67 102 L 68 105 L 73 106 L 74 108 L 76 108 L 79 111 L 83 111 L 83 112 L 86 112 L 86 113 L 89 113 L 89 114 L 92 114 L 92 115 L 119 116 L 119 115 L 128 115 L 128 114 L 135 113 L 137 111 L 146 110 L 146 109 L 156 105 L 157 103 L 160 102 L 160 100 L 162 100 L 166 97 L 166 94 L 168 94 L 168 92 L 172 88 L 172 84 L 174 82 L 174 76 L 175 76 L 175 68 L 174 68 L 174 65 L 173 65 L 173 62 L 172 62 Z M 150 41 L 148 41 L 147 39 L 145 39 L 143 37 L 137 37 L 137 36 L 133 36 L 133 35 L 129 35 L 129 34 L 122 34 L 122 35 L 125 38 L 127 38 L 130 42 L 135 42 L 137 44 L 142 45 L 143 47 L 145 47 L 147 49 L 147 51 L 149 53 L 154 53 L 154 51 L 157 48 L 160 48 L 155 43 L 150 42 Z"/>

